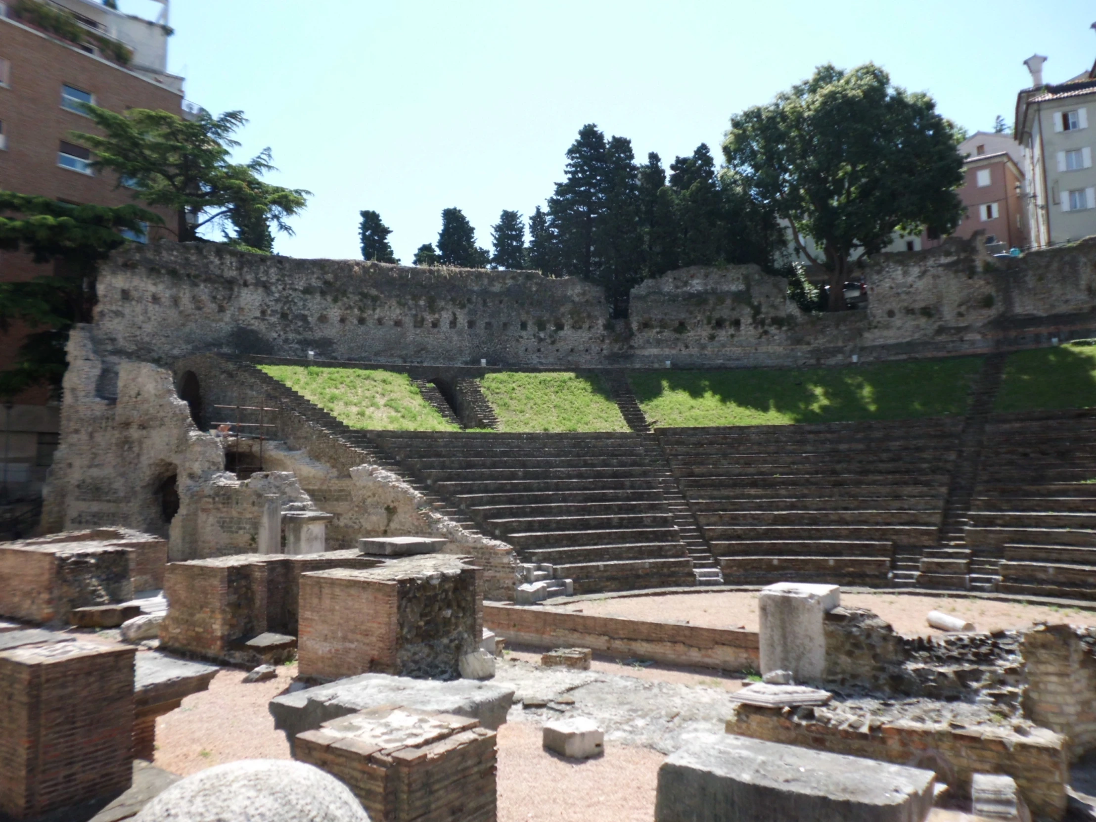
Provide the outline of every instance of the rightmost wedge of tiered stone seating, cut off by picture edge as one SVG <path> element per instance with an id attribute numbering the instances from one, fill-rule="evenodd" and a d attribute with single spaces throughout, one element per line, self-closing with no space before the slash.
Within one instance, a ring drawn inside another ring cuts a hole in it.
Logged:
<path id="1" fill-rule="evenodd" d="M 1096 409 L 989 423 L 967 545 L 1004 593 L 1096 600 Z"/>

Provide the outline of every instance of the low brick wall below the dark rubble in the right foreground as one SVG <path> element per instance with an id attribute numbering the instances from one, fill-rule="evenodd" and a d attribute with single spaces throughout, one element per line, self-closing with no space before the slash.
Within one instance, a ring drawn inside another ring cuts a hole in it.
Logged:
<path id="1" fill-rule="evenodd" d="M 797 719 L 790 709 L 740 705 L 727 732 L 817 751 L 863 756 L 935 770 L 940 781 L 969 796 L 973 774 L 1007 774 L 1034 815 L 1062 819 L 1070 780 L 1064 737 L 1042 728 L 1028 735 L 1001 728 L 948 728 L 907 722 L 850 730 Z"/>

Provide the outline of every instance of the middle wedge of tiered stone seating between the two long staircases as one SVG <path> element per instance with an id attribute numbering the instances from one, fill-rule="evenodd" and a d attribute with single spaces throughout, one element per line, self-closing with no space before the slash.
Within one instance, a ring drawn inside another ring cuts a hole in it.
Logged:
<path id="1" fill-rule="evenodd" d="M 960 419 L 665 429 L 728 584 L 882 585 L 937 545 Z"/>

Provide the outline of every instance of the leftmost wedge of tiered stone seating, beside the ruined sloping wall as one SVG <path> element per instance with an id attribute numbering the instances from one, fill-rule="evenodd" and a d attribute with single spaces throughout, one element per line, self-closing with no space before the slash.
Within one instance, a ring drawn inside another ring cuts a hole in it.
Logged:
<path id="1" fill-rule="evenodd" d="M 694 585 L 673 513 L 635 434 L 375 431 L 369 437 L 525 562 L 576 593 Z"/>

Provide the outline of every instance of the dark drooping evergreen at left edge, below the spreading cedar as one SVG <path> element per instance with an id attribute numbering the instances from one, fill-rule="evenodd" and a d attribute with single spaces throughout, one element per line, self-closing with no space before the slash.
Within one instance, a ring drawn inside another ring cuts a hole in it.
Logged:
<path id="1" fill-rule="evenodd" d="M 0 283 L 0 329 L 14 321 L 33 329 L 15 367 L 0 372 L 0 397 L 43 383 L 60 386 L 68 331 L 92 320 L 96 266 L 127 241 L 123 231 L 138 236 L 161 221 L 136 205 L 73 206 L 0 191 L 0 250 L 28 252 L 49 272 L 27 282 Z"/>

